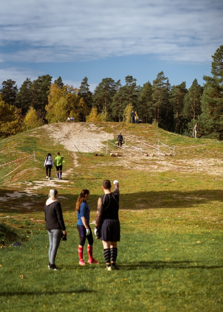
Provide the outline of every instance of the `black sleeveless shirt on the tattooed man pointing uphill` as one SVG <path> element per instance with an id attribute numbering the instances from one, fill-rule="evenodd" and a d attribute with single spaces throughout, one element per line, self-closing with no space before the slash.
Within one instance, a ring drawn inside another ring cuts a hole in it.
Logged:
<path id="1" fill-rule="evenodd" d="M 103 202 L 101 219 L 119 219 L 119 194 L 109 193 L 100 197 Z"/>

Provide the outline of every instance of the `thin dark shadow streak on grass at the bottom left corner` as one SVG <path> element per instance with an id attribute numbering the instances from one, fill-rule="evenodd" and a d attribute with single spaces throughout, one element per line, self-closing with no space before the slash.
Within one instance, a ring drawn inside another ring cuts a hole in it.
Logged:
<path id="1" fill-rule="evenodd" d="M 7 297 L 7 296 L 22 296 L 22 295 L 29 295 L 29 296 L 42 296 L 42 295 L 59 295 L 59 294 L 81 294 L 81 293 L 94 293 L 95 290 L 89 289 L 80 289 L 80 290 L 61 290 L 61 291 L 0 291 L 0 297 Z"/>

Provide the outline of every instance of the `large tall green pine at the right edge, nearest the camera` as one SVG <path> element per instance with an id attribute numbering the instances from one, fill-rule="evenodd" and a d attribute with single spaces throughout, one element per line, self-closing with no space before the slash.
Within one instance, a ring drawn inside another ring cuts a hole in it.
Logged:
<path id="1" fill-rule="evenodd" d="M 213 56 L 210 76 L 203 76 L 206 81 L 201 100 L 202 114 L 199 116 L 202 132 L 223 139 L 223 45 Z"/>

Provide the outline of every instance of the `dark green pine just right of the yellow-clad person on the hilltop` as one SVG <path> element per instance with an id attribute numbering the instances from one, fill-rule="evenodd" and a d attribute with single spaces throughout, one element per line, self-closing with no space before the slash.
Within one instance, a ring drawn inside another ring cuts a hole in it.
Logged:
<path id="1" fill-rule="evenodd" d="M 152 93 L 152 85 L 148 81 L 142 87 L 138 104 L 138 115 L 140 116 L 140 119 L 142 118 L 145 123 L 150 124 L 154 117 Z"/>

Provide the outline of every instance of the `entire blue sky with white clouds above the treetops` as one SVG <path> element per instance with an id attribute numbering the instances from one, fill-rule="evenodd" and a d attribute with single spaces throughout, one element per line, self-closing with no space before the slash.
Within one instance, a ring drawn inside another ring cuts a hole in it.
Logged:
<path id="1" fill-rule="evenodd" d="M 223 44 L 223 2 L 210 0 L 8 0 L 0 11 L 0 82 L 50 74 L 91 90 L 102 78 L 138 84 L 209 75 Z"/>

